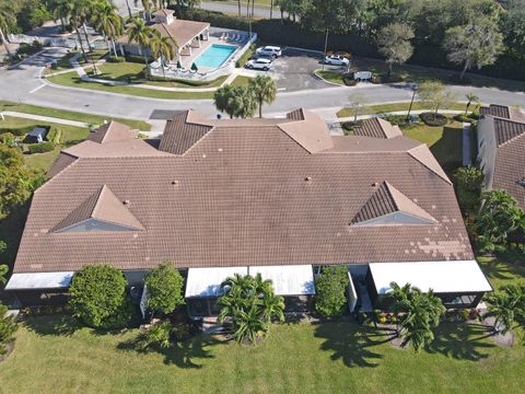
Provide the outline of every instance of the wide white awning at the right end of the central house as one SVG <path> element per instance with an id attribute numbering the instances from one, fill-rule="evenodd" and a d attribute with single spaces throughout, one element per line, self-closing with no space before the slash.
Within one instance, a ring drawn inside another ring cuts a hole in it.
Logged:
<path id="1" fill-rule="evenodd" d="M 390 282 L 435 293 L 492 291 L 476 260 L 371 263 L 370 271 L 377 294 L 389 292 Z"/>

